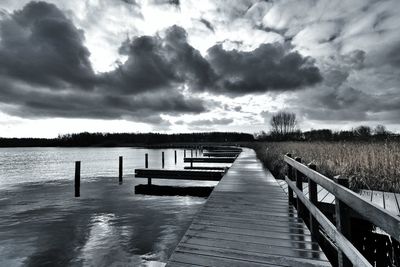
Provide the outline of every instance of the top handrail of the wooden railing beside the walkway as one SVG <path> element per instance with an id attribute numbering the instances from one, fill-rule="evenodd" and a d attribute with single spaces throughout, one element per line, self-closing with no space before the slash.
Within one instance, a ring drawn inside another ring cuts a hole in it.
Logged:
<path id="1" fill-rule="evenodd" d="M 297 169 L 305 176 L 324 187 L 332 193 L 340 201 L 345 203 L 351 209 L 355 210 L 367 221 L 372 222 L 391 235 L 394 239 L 400 242 L 400 218 L 392 215 L 385 209 L 374 205 L 362 199 L 358 194 L 350 189 L 341 186 L 328 177 L 308 168 L 306 165 L 297 162 L 296 160 L 285 155 L 286 163 Z"/>

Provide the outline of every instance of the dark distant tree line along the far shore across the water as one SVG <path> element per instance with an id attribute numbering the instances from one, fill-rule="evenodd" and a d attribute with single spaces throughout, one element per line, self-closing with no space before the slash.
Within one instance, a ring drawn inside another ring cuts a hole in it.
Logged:
<path id="1" fill-rule="evenodd" d="M 186 134 L 160 133 L 76 133 L 57 138 L 0 138 L 0 147 L 86 147 L 152 146 L 171 143 L 251 142 L 254 135 L 236 132 Z"/>

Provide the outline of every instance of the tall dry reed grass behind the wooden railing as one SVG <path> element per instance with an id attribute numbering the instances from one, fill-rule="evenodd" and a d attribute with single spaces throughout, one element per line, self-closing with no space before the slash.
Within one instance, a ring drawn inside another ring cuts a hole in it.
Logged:
<path id="1" fill-rule="evenodd" d="M 291 153 L 329 178 L 348 178 L 354 191 L 400 192 L 399 142 L 260 142 L 252 148 L 278 179 L 286 173 L 283 155 Z"/>

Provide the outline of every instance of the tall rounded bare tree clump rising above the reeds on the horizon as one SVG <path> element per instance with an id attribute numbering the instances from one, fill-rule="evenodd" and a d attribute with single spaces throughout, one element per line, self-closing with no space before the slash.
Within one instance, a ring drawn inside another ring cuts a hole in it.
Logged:
<path id="1" fill-rule="evenodd" d="M 288 136 L 296 132 L 296 114 L 280 111 L 271 118 L 271 133 L 276 136 Z"/>

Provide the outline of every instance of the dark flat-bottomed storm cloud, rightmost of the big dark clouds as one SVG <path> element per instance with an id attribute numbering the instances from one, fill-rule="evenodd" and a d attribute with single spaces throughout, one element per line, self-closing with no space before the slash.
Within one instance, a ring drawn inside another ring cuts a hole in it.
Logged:
<path id="1" fill-rule="evenodd" d="M 250 52 L 226 51 L 219 44 L 208 50 L 208 60 L 220 77 L 215 90 L 229 94 L 296 90 L 322 80 L 312 58 L 287 53 L 278 43 Z"/>

